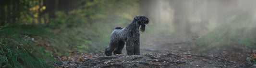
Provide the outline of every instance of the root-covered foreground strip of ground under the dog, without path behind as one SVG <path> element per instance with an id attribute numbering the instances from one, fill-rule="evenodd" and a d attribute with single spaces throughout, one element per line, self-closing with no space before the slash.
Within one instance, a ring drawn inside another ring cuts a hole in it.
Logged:
<path id="1" fill-rule="evenodd" d="M 68 58 L 57 59 L 63 63 L 61 68 L 256 68 L 250 60 L 178 51 L 133 56 L 104 56 L 76 52 Z"/>

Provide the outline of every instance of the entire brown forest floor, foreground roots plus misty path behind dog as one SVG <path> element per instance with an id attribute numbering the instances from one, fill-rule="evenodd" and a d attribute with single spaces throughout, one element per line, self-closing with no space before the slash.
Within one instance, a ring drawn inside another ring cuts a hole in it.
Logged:
<path id="1" fill-rule="evenodd" d="M 256 68 L 251 60 L 256 56 L 247 52 L 249 48 L 233 46 L 204 53 L 193 48 L 192 40 L 157 40 L 142 43 L 141 55 L 128 56 L 125 49 L 113 56 L 71 51 L 69 57 L 55 57 L 63 65 L 52 64 L 57 68 Z"/>

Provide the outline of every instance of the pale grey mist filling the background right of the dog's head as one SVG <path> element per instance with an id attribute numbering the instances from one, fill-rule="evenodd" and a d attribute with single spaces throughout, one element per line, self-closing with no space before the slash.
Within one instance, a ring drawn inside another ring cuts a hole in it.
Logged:
<path id="1" fill-rule="evenodd" d="M 142 49 L 215 53 L 233 46 L 255 48 L 255 0 L 140 0 L 150 19 Z"/>

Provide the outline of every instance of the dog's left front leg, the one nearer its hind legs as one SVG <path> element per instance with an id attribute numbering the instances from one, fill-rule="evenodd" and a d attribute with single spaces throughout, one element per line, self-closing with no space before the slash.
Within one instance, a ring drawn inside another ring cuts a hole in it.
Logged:
<path id="1" fill-rule="evenodd" d="M 134 55 L 134 41 L 127 39 L 126 51 L 128 55 Z"/>

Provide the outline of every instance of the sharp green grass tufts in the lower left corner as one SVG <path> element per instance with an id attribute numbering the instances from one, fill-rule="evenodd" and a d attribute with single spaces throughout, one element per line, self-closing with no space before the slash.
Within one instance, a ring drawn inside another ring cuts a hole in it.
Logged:
<path id="1" fill-rule="evenodd" d="M 13 25 L 0 29 L 0 67 L 3 68 L 52 68 L 51 57 L 36 48 L 21 35 L 46 35 L 43 29 L 32 25 Z"/>

